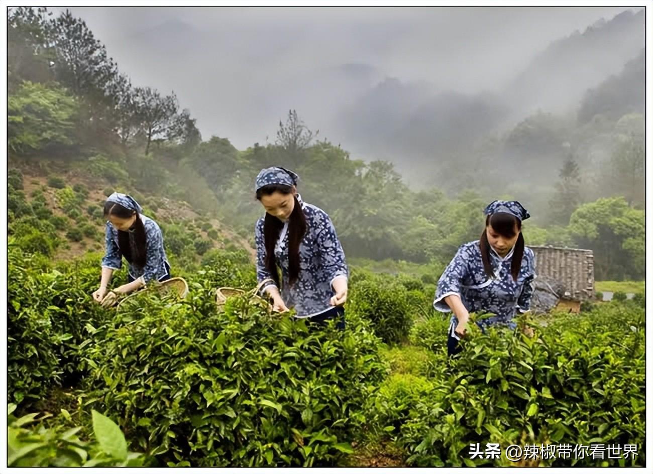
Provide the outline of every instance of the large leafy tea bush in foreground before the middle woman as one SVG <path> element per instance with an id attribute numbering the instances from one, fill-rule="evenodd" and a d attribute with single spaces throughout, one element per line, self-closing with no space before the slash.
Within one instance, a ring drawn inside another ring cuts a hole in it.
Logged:
<path id="1" fill-rule="evenodd" d="M 379 340 L 333 324 L 309 332 L 244 298 L 218 313 L 214 286 L 196 283 L 187 302 L 119 310 L 87 347 L 92 394 L 138 449 L 161 463 L 233 467 L 332 466 L 351 452 L 385 375 Z"/>

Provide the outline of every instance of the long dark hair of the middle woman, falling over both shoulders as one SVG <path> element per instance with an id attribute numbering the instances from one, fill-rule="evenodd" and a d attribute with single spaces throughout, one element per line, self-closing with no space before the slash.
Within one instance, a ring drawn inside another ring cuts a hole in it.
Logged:
<path id="1" fill-rule="evenodd" d="M 268 184 L 256 191 L 256 198 L 261 200 L 263 196 L 269 196 L 276 191 L 289 195 L 293 188 L 283 184 Z M 306 234 L 306 216 L 302 211 L 297 197 L 295 198 L 295 207 L 290 215 L 288 223 L 288 273 L 289 284 L 292 286 L 299 277 L 299 245 L 302 243 L 304 234 Z M 265 268 L 270 272 L 272 278 L 279 286 L 279 270 L 277 269 L 277 259 L 274 255 L 274 247 L 279 240 L 279 235 L 283 229 L 283 222 L 274 215 L 265 213 L 263 222 L 263 238 L 265 242 Z"/>

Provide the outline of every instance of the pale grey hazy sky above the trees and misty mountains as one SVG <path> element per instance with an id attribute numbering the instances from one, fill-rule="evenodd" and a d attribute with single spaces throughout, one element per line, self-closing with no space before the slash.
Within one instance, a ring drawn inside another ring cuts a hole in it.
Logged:
<path id="1" fill-rule="evenodd" d="M 338 143 L 328 118 L 353 88 L 386 76 L 436 90 L 497 89 L 552 40 L 626 9 L 70 8 L 135 86 L 174 89 L 204 139 L 226 137 L 241 150 L 274 142 L 289 108 Z"/>

